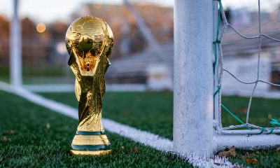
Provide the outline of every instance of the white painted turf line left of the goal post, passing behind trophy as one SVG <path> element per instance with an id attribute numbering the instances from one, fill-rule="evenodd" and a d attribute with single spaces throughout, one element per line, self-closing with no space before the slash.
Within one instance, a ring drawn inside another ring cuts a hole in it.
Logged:
<path id="1" fill-rule="evenodd" d="M 38 94 L 29 92 L 28 90 L 22 89 L 20 87 L 13 87 L 6 83 L 0 82 L 0 89 L 5 90 L 13 94 L 17 94 L 20 97 L 23 97 L 34 104 L 38 104 L 52 111 L 62 113 L 65 116 L 69 116 L 74 119 L 78 119 L 78 110 L 67 106 L 65 104 L 55 102 L 50 99 L 46 99 Z M 120 134 L 120 136 L 127 137 L 133 141 L 146 144 L 160 151 L 172 151 L 172 141 L 166 138 L 159 137 L 158 135 L 151 134 L 150 132 L 137 130 L 134 127 L 116 123 L 113 120 L 102 118 L 102 123 L 104 123 L 105 130 Z"/>

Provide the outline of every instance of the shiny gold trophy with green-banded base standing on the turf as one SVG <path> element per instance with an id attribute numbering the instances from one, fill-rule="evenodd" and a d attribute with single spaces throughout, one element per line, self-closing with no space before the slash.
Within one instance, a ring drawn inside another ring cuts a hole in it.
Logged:
<path id="1" fill-rule="evenodd" d="M 74 155 L 111 153 L 111 144 L 102 125 L 102 99 L 105 93 L 105 73 L 110 65 L 113 33 L 99 18 L 85 16 L 71 23 L 65 37 L 70 55 L 78 99 L 78 127 L 73 138 Z"/>

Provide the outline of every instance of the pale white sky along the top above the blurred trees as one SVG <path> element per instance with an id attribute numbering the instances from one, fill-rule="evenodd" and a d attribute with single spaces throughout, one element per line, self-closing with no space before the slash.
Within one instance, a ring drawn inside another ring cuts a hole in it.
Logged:
<path id="1" fill-rule="evenodd" d="M 137 1 L 137 0 L 130 0 Z M 174 6 L 174 0 L 138 0 L 155 3 L 160 6 Z M 71 13 L 81 10 L 83 3 L 113 3 L 120 4 L 123 0 L 19 0 L 21 18 L 31 18 L 36 22 L 52 22 L 62 20 L 69 22 Z M 280 0 L 261 0 L 262 10 L 275 10 Z M 249 8 L 258 7 L 258 0 L 223 0 L 224 8 Z M 1 0 L 0 14 L 8 18 L 12 15 L 13 0 Z"/>

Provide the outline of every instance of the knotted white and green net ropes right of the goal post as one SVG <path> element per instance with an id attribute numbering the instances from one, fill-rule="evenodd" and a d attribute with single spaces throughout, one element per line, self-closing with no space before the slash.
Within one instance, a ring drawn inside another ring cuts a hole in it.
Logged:
<path id="1" fill-rule="evenodd" d="M 228 20 L 225 16 L 225 10 L 223 9 L 223 5 L 221 0 L 218 1 L 219 8 L 218 8 L 218 25 L 217 25 L 217 31 L 216 31 L 216 41 L 214 41 L 214 53 L 215 53 L 215 61 L 214 61 L 214 74 L 218 73 L 218 85 L 216 86 L 216 91 L 214 92 L 214 101 L 216 96 L 218 96 L 218 118 L 216 118 L 216 131 L 218 133 L 225 133 L 227 130 L 238 130 L 238 129 L 243 129 L 246 128 L 247 131 L 243 131 L 242 133 L 238 134 L 279 134 L 280 133 L 280 125 L 279 123 L 273 124 L 279 127 L 260 127 L 258 125 L 253 125 L 249 123 L 249 114 L 251 111 L 251 104 L 252 104 L 252 99 L 255 93 L 255 89 L 258 85 L 258 83 L 266 83 L 268 85 L 274 85 L 274 86 L 280 86 L 276 83 L 271 83 L 265 80 L 260 80 L 260 52 L 261 52 L 261 37 L 269 38 L 272 41 L 277 41 L 280 42 L 280 39 L 274 38 L 272 36 L 268 36 L 267 34 L 262 34 L 262 29 L 261 29 L 261 22 L 260 22 L 260 0 L 258 0 L 258 35 L 257 36 L 246 36 L 245 34 L 241 34 L 235 27 L 230 25 L 228 23 Z M 221 17 L 223 18 L 223 25 L 220 27 L 221 24 Z M 225 32 L 227 29 L 230 28 L 233 31 L 235 31 L 236 34 L 241 36 L 242 38 L 246 39 L 254 39 L 258 38 L 258 63 L 257 63 L 257 76 L 256 79 L 253 81 L 244 81 L 235 76 L 235 74 L 231 73 L 227 69 L 223 68 L 223 50 L 222 50 L 222 41 L 223 41 L 223 36 L 225 35 Z M 218 67 L 217 67 L 218 66 Z M 217 70 L 218 71 L 217 71 Z M 239 83 L 243 83 L 245 85 L 250 85 L 254 84 L 253 90 L 251 92 L 248 106 L 247 106 L 247 111 L 246 111 L 246 123 L 241 121 L 237 116 L 235 116 L 234 113 L 232 113 L 229 109 L 227 109 L 221 102 L 221 87 L 222 87 L 222 80 L 223 80 L 223 72 L 228 73 L 232 78 L 235 78 Z M 221 111 L 222 108 L 225 109 L 232 117 L 234 117 L 236 120 L 239 121 L 240 125 L 230 125 L 229 127 L 223 127 L 222 126 L 222 120 L 221 120 Z M 274 119 L 275 120 L 275 119 Z M 277 122 L 274 121 L 274 122 Z M 237 132 L 227 132 L 228 134 L 237 134 Z"/>

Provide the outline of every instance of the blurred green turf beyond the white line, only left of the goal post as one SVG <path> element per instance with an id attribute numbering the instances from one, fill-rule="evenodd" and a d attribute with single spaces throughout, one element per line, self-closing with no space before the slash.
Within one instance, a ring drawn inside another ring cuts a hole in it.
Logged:
<path id="1" fill-rule="evenodd" d="M 78 108 L 74 93 L 44 93 L 45 97 Z M 103 117 L 172 139 L 171 92 L 106 92 Z"/>

